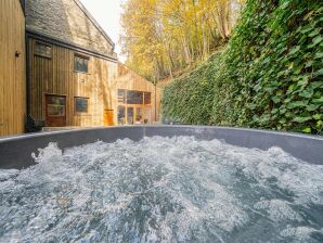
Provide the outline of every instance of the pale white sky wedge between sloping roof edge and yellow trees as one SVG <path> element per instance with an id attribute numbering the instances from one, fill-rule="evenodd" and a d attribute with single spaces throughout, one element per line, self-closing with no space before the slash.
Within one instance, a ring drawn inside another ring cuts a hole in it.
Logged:
<path id="1" fill-rule="evenodd" d="M 121 2 L 125 0 L 80 0 L 95 21 L 116 44 L 115 51 L 119 60 L 125 62 L 125 56 L 120 55 L 119 35 L 121 34 Z"/>

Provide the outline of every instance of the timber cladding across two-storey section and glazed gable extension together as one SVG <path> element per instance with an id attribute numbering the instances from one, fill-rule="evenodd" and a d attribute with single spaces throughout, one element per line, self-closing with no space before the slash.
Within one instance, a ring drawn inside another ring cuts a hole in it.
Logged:
<path id="1" fill-rule="evenodd" d="M 152 82 L 125 65 L 47 42 L 51 47 L 49 59 L 35 54 L 37 41 L 31 37 L 28 39 L 28 105 L 35 119 L 46 120 L 46 95 L 56 94 L 66 97 L 66 126 L 103 126 L 107 124 L 106 111 L 111 111 L 108 119 L 114 116 L 108 124 L 117 124 L 118 89 L 150 93 L 151 119 L 159 119 L 160 89 L 155 89 Z M 88 60 L 87 73 L 75 71 L 75 56 Z M 87 112 L 76 112 L 75 98 L 88 100 Z"/>

